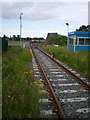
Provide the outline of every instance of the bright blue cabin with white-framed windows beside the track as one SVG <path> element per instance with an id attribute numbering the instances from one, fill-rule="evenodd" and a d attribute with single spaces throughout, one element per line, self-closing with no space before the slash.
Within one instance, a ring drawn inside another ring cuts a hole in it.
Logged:
<path id="1" fill-rule="evenodd" d="M 71 51 L 90 50 L 90 32 L 73 31 L 68 33 L 68 49 Z"/>

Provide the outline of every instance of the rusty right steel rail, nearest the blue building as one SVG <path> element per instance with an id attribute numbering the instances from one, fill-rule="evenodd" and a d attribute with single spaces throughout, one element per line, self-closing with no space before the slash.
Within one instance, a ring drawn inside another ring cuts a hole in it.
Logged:
<path id="1" fill-rule="evenodd" d="M 73 72 L 68 70 L 65 66 L 63 66 L 61 63 L 56 61 L 54 58 L 52 58 L 50 55 L 48 55 L 46 52 L 44 52 L 41 48 L 35 46 L 37 49 L 39 49 L 42 53 L 44 53 L 47 57 L 49 57 L 52 61 L 54 61 L 58 66 L 62 67 L 68 74 L 70 74 L 75 80 L 77 80 L 79 83 L 83 85 L 83 87 L 90 91 L 90 85 L 85 83 L 81 78 L 79 78 L 77 75 L 75 75 Z"/>

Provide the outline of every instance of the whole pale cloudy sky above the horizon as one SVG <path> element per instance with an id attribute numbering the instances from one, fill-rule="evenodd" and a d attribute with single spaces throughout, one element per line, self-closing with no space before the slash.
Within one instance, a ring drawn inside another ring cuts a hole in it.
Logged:
<path id="1" fill-rule="evenodd" d="M 72 2 L 73 1 L 73 2 Z M 88 0 L 3 0 L 0 4 L 0 36 L 44 37 L 47 33 L 67 35 L 81 25 L 88 25 Z"/>

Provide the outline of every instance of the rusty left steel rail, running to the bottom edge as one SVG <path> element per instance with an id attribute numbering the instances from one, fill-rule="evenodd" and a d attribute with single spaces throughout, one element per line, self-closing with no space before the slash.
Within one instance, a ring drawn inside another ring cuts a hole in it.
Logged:
<path id="1" fill-rule="evenodd" d="M 56 97 L 56 95 L 55 95 L 55 93 L 53 91 L 53 88 L 52 88 L 52 86 L 51 86 L 51 84 L 50 84 L 50 82 L 49 82 L 49 80 L 48 80 L 48 78 L 47 78 L 41 64 L 39 63 L 37 57 L 35 56 L 35 53 L 34 53 L 32 47 L 31 47 L 31 49 L 32 49 L 32 53 L 33 53 L 33 55 L 34 55 L 34 57 L 36 59 L 36 62 L 39 65 L 39 69 L 40 69 L 40 71 L 41 71 L 41 73 L 42 73 L 42 75 L 43 75 L 43 77 L 44 77 L 44 79 L 45 79 L 45 81 L 47 83 L 46 85 L 47 85 L 47 87 L 49 89 L 50 96 L 53 98 L 53 104 L 54 104 L 54 106 L 55 106 L 55 108 L 57 110 L 58 117 L 63 119 L 63 120 L 67 120 L 66 114 L 65 114 L 63 108 L 61 107 L 60 102 L 58 101 L 58 99 L 57 99 L 57 97 Z"/>

